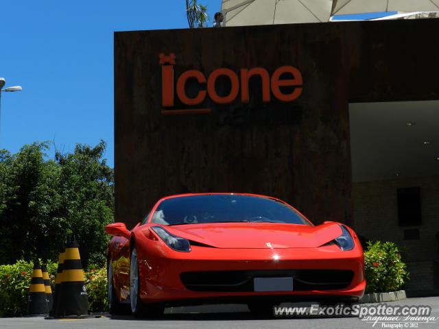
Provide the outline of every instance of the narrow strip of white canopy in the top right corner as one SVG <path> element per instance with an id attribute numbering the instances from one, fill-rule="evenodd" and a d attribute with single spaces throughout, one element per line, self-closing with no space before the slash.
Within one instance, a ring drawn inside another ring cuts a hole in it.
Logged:
<path id="1" fill-rule="evenodd" d="M 331 16 L 365 12 L 437 12 L 439 0 L 333 0 Z"/>

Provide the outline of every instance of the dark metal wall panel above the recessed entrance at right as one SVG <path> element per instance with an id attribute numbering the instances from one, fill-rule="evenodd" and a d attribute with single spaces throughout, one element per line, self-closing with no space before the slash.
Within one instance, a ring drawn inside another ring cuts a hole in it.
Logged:
<path id="1" fill-rule="evenodd" d="M 348 100 L 439 99 L 439 19 L 335 23 L 348 63 Z"/>

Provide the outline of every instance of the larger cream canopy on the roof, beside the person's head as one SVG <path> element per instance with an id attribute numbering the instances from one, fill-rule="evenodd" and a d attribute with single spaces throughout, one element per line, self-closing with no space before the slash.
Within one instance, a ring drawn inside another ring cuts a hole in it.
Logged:
<path id="1" fill-rule="evenodd" d="M 332 3 L 332 0 L 222 0 L 223 26 L 327 22 Z"/>

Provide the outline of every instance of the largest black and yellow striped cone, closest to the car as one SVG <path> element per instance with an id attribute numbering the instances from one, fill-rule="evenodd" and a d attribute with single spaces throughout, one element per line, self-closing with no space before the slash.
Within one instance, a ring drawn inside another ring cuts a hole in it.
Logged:
<path id="1" fill-rule="evenodd" d="M 81 317 L 88 315 L 88 298 L 80 251 L 75 236 L 67 242 L 62 264 L 60 310 L 55 317 Z"/>

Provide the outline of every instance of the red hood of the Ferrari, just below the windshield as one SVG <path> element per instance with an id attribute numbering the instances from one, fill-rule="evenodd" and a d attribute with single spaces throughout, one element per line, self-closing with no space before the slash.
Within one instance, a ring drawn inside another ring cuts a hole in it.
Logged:
<path id="1" fill-rule="evenodd" d="M 342 234 L 339 223 L 209 223 L 165 226 L 176 236 L 217 248 L 320 247 Z"/>

